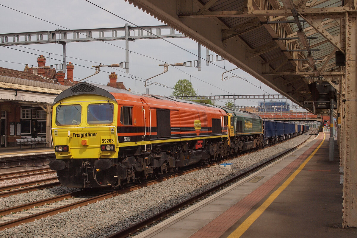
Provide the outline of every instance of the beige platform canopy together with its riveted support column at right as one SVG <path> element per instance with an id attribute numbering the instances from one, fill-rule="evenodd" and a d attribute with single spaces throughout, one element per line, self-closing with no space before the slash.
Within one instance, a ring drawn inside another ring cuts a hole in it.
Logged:
<path id="1" fill-rule="evenodd" d="M 356 1 L 126 1 L 311 112 L 328 114 L 330 103 L 321 100 L 322 94 L 328 101 L 335 90 L 331 98 L 336 97 L 335 114 L 341 117 L 343 226 L 357 227 Z"/>

